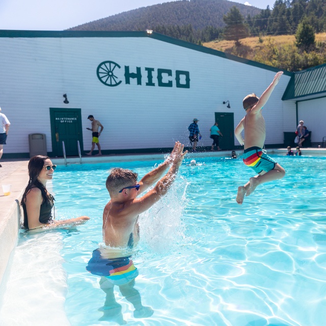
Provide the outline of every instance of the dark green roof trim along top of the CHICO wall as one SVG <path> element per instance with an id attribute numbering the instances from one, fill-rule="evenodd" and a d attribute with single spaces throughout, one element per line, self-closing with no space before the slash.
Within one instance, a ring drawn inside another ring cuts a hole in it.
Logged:
<path id="1" fill-rule="evenodd" d="M 247 60 L 244 58 L 236 57 L 233 55 L 229 55 L 228 53 L 213 50 L 211 48 L 197 45 L 194 43 L 182 41 L 179 39 L 175 39 L 170 36 L 166 36 L 163 34 L 155 33 L 148 34 L 146 31 L 138 31 L 138 32 L 120 32 L 120 31 L 13 31 L 13 30 L 0 30 L 0 37 L 8 37 L 8 38 L 36 38 L 36 37 L 149 37 L 155 40 L 171 43 L 174 45 L 186 47 L 188 49 L 192 49 L 195 51 L 207 53 L 208 55 L 217 56 L 233 61 L 237 61 L 240 63 L 244 63 L 246 65 L 278 72 L 279 68 L 271 67 L 264 65 L 262 63 Z M 285 75 L 292 76 L 292 72 L 284 71 Z"/>

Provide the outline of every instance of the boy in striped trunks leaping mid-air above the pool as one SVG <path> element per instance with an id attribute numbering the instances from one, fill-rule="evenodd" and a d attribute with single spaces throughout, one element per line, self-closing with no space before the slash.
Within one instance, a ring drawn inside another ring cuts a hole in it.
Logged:
<path id="1" fill-rule="evenodd" d="M 238 187 L 236 202 L 242 204 L 244 195 L 251 195 L 258 184 L 282 179 L 285 170 L 262 149 L 266 138 L 265 120 L 261 110 L 266 104 L 269 96 L 278 84 L 283 71 L 279 71 L 273 82 L 267 87 L 261 97 L 256 94 L 247 95 L 243 101 L 246 116 L 235 128 L 235 137 L 241 145 L 244 145 L 243 162 L 251 167 L 258 175 L 249 179 L 244 186 Z M 244 140 L 241 132 L 244 129 Z"/>

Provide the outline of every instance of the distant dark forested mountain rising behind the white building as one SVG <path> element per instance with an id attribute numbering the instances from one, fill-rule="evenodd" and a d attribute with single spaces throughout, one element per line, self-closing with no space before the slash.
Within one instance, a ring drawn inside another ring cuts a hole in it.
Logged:
<path id="1" fill-rule="evenodd" d="M 159 25 L 192 25 L 195 30 L 207 26 L 222 28 L 225 25 L 223 15 L 232 6 L 236 6 L 244 17 L 261 12 L 256 7 L 227 0 L 181 0 L 130 10 L 75 26 L 69 31 L 155 31 L 155 26 Z"/>

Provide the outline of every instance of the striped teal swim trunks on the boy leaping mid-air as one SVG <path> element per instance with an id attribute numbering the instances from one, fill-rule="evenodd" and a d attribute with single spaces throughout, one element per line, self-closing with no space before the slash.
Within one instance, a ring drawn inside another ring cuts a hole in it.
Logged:
<path id="1" fill-rule="evenodd" d="M 276 161 L 266 154 L 266 151 L 260 147 L 250 147 L 243 151 L 243 162 L 251 167 L 256 173 L 273 170 Z"/>

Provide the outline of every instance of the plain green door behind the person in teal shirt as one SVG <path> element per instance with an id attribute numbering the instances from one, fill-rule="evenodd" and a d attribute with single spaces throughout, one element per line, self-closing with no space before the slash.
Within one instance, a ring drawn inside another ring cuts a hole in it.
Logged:
<path id="1" fill-rule="evenodd" d="M 223 137 L 220 136 L 221 149 L 234 148 L 234 119 L 233 113 L 215 112 L 215 122 L 219 123 Z"/>

